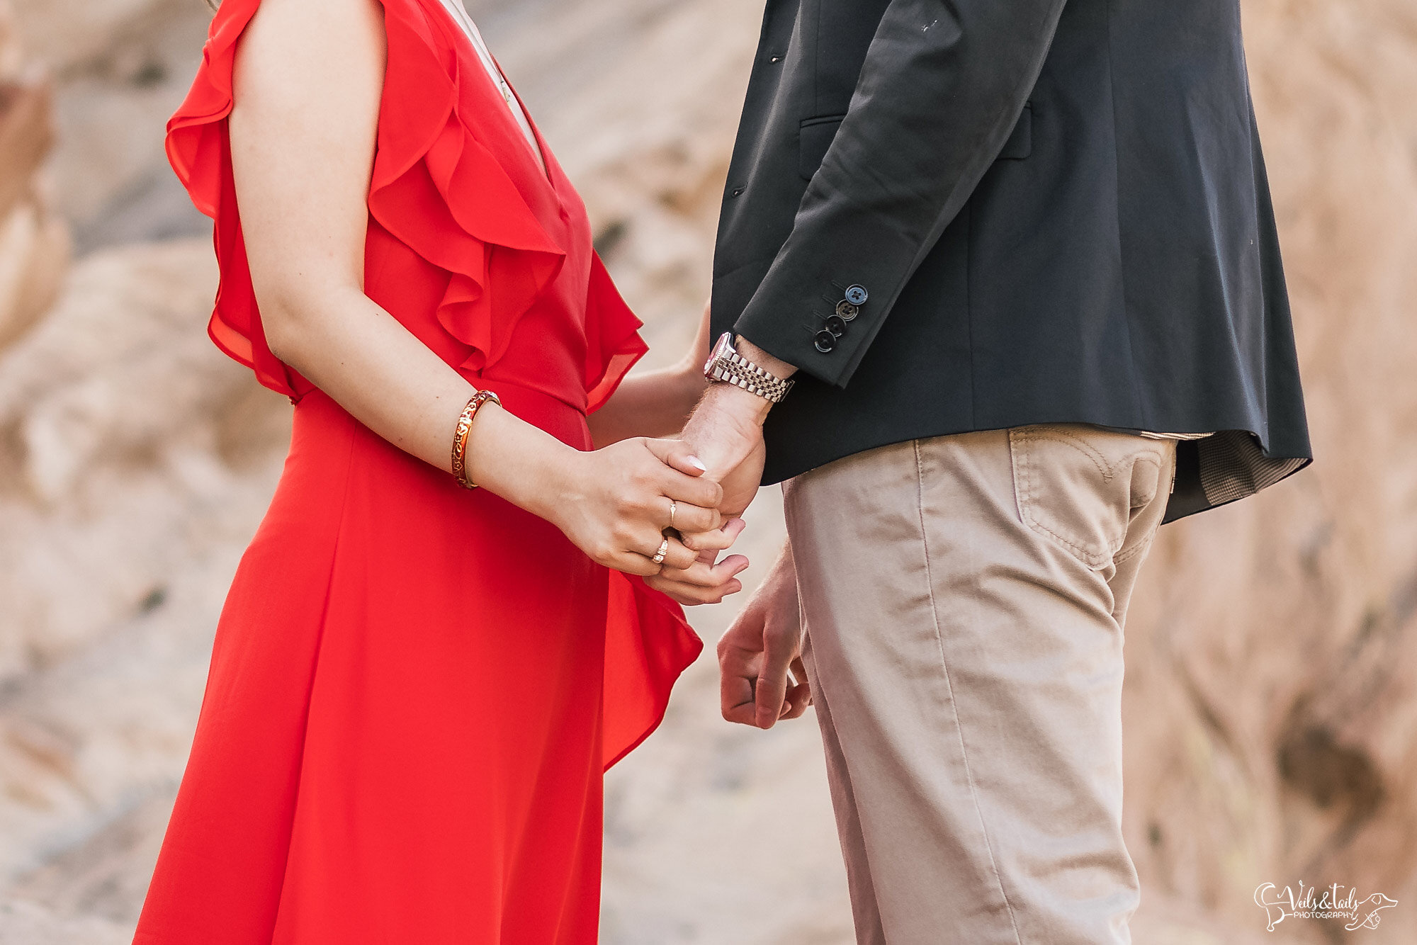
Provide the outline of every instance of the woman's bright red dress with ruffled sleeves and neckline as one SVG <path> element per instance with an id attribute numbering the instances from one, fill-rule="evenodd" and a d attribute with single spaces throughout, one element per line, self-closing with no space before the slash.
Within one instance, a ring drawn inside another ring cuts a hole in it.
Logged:
<path id="1" fill-rule="evenodd" d="M 589 449 L 585 415 L 645 351 L 639 322 L 575 190 L 544 143 L 541 170 L 439 0 L 383 3 L 366 290 Z M 256 6 L 222 1 L 167 152 L 215 220 L 211 337 L 296 402 L 295 429 L 135 942 L 594 942 L 602 771 L 655 728 L 701 643 L 672 601 L 395 449 L 271 354 L 225 122 Z"/>

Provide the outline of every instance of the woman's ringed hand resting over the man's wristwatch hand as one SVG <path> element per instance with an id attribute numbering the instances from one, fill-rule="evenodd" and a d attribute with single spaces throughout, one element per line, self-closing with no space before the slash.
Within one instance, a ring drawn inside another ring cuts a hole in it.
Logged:
<path id="1" fill-rule="evenodd" d="M 663 568 L 691 568 L 699 553 L 673 533 L 663 562 L 653 562 L 665 533 L 674 527 L 717 534 L 721 526 L 723 489 L 703 479 L 703 463 L 680 441 L 625 439 L 577 452 L 558 466 L 543 517 L 616 571 L 655 575 Z"/>

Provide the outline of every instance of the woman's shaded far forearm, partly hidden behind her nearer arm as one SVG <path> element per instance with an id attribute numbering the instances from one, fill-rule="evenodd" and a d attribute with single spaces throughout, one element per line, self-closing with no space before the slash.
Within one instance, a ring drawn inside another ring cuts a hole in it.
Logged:
<path id="1" fill-rule="evenodd" d="M 693 347 L 673 367 L 626 377 L 605 407 L 591 414 L 597 446 L 631 436 L 676 436 L 703 397 L 708 360 L 708 306 L 704 306 Z"/>

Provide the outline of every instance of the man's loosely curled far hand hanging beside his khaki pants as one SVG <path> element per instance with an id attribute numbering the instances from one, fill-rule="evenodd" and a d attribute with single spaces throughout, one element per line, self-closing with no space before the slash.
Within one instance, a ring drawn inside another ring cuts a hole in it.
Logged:
<path id="1" fill-rule="evenodd" d="M 718 640 L 718 693 L 724 718 L 758 728 L 812 704 L 791 545 Z"/>

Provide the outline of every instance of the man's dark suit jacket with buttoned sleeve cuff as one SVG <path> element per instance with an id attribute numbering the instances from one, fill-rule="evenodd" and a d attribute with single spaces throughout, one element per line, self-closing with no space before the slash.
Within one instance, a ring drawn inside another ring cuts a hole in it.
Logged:
<path id="1" fill-rule="evenodd" d="M 1041 422 L 1217 432 L 1168 520 L 1299 469 L 1237 0 L 768 0 L 713 322 L 801 368 L 765 482 Z"/>

